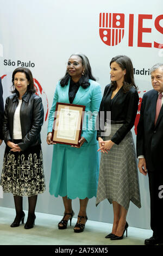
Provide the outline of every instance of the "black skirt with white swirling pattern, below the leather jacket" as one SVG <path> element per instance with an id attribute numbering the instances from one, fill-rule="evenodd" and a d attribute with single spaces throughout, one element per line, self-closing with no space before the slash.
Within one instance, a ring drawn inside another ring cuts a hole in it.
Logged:
<path id="1" fill-rule="evenodd" d="M 20 140 L 15 140 L 18 143 Z M 25 151 L 12 152 L 5 148 L 1 186 L 14 196 L 34 196 L 45 191 L 45 176 L 41 145 Z"/>

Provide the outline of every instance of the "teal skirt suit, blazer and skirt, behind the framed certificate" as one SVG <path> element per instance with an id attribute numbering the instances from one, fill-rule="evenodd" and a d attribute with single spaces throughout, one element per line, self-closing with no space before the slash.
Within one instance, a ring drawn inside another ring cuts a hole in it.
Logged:
<path id="1" fill-rule="evenodd" d="M 84 105 L 85 115 L 82 135 L 86 142 L 81 148 L 70 145 L 53 145 L 53 160 L 49 192 L 55 197 L 69 199 L 96 197 L 99 155 L 96 140 L 96 117 L 101 103 L 101 87 L 95 81 L 89 80 L 90 86 L 83 89 L 81 86 L 74 97 L 73 104 Z M 60 82 L 55 89 L 53 105 L 49 113 L 48 132 L 52 132 L 55 106 L 57 102 L 70 103 L 68 90 L 70 81 L 65 87 Z"/>

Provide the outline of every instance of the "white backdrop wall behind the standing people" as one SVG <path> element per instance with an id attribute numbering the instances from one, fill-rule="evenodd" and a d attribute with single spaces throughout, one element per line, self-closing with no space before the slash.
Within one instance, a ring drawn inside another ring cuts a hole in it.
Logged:
<path id="1" fill-rule="evenodd" d="M 10 94 L 12 71 L 17 66 L 28 65 L 46 114 L 52 106 L 55 85 L 65 74 L 68 57 L 74 52 L 82 52 L 89 58 L 93 75 L 98 78 L 102 92 L 110 81 L 111 58 L 118 54 L 129 56 L 135 68 L 135 81 L 139 87 L 141 102 L 143 93 L 152 89 L 148 70 L 153 64 L 162 62 L 162 5 L 162 0 L 143 3 L 141 0 L 0 0 L 0 76 L 4 101 Z M 116 29 L 114 23 L 117 30 L 120 27 L 121 30 L 124 29 L 123 39 L 117 45 L 112 41 L 111 46 L 108 45 L 109 37 L 107 38 L 106 33 L 109 33 L 109 28 L 106 28 L 106 16 L 104 24 L 102 21 L 105 32 L 100 29 L 103 33 L 102 41 L 99 35 L 100 13 L 102 17 L 103 13 L 108 13 L 110 29 Z M 109 14 L 116 17 L 116 22 L 114 18 L 109 20 Z M 159 48 L 154 47 L 154 41 Z M 143 44 L 145 42 L 148 44 Z M 139 111 L 137 114 L 139 117 Z M 38 197 L 36 211 L 62 215 L 64 208 L 61 197 L 55 198 L 48 192 L 53 146 L 46 144 L 46 135 L 47 119 L 41 131 L 46 192 Z M 135 140 L 134 128 L 133 136 Z M 3 142 L 0 147 L 0 173 L 4 149 Z M 148 178 L 139 174 L 139 180 L 142 208 L 138 209 L 130 203 L 127 218 L 130 226 L 150 228 Z M 24 209 L 27 210 L 27 198 L 23 202 Z M 4 198 L 0 199 L 0 206 L 14 208 L 12 194 L 5 193 Z M 79 202 L 75 199 L 73 210 L 76 216 L 78 209 Z M 92 198 L 87 215 L 89 220 L 112 223 L 112 205 L 104 200 L 96 208 L 95 198 Z"/>

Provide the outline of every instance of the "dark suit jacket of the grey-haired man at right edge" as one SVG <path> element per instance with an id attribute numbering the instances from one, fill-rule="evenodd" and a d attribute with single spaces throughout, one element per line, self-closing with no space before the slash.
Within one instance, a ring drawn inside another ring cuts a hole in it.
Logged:
<path id="1" fill-rule="evenodd" d="M 156 90 L 150 90 L 143 95 L 137 125 L 137 156 L 145 156 L 148 172 L 163 170 L 163 105 L 154 125 L 157 99 Z"/>

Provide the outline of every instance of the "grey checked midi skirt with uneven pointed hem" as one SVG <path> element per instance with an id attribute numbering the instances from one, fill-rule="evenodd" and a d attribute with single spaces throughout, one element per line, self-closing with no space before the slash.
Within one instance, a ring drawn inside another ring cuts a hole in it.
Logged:
<path id="1" fill-rule="evenodd" d="M 122 124 L 111 124 L 111 134 L 104 138 L 111 139 Z M 101 154 L 96 206 L 108 199 L 122 205 L 126 210 L 130 201 L 141 208 L 139 178 L 135 145 L 131 131 L 120 144 L 114 144 L 108 154 Z"/>

